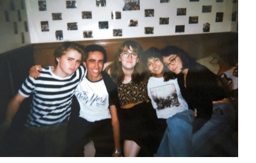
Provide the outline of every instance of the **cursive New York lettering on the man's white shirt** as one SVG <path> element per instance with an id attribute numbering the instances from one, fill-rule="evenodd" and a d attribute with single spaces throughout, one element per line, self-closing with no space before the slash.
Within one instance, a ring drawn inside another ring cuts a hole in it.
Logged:
<path id="1" fill-rule="evenodd" d="M 88 106 L 97 106 L 97 107 L 102 107 L 105 106 L 107 97 L 99 97 L 95 93 L 92 95 L 89 95 L 88 92 L 86 91 L 76 91 L 75 92 L 76 98 L 82 101 L 85 105 Z"/>

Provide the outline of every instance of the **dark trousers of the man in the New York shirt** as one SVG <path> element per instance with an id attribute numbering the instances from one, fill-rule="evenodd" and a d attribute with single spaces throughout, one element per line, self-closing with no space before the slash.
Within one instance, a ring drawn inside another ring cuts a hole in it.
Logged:
<path id="1" fill-rule="evenodd" d="M 89 122 L 78 117 L 70 120 L 63 156 L 84 156 L 84 146 L 90 140 L 95 146 L 95 156 L 112 156 L 114 138 L 111 119 Z"/>

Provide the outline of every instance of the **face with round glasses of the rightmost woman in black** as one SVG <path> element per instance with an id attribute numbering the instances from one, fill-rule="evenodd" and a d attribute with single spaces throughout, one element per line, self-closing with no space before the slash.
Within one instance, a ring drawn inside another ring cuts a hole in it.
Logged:
<path id="1" fill-rule="evenodd" d="M 170 71 L 175 74 L 182 72 L 182 60 L 176 54 L 171 54 L 168 57 L 163 57 L 164 64 Z"/>

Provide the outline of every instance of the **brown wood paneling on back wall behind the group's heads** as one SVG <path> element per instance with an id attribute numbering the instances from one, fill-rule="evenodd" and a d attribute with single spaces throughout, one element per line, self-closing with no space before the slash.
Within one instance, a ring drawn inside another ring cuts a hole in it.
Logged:
<path id="1" fill-rule="evenodd" d="M 105 40 L 84 40 L 79 41 L 82 45 L 98 44 L 103 46 L 108 55 L 108 61 L 113 60 L 117 49 L 127 39 L 105 39 Z M 138 37 L 129 38 L 141 43 L 143 50 L 152 46 L 164 48 L 167 45 L 176 45 L 188 52 L 192 57 L 199 59 L 213 53 L 219 53 L 223 49 L 229 49 L 230 46 L 238 43 L 238 33 L 204 33 L 197 35 L 177 35 L 177 36 L 157 36 L 157 37 Z M 35 63 L 41 65 L 55 65 L 54 49 L 59 46 L 58 43 L 38 43 L 34 44 Z M 223 54 L 221 54 L 223 55 Z"/>

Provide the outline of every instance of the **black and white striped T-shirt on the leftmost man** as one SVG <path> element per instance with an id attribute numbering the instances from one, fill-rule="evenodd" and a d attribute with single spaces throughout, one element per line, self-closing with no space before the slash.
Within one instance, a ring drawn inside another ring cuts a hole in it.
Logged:
<path id="1" fill-rule="evenodd" d="M 18 90 L 26 98 L 33 94 L 25 126 L 47 126 L 64 121 L 70 115 L 74 90 L 85 74 L 86 68 L 80 66 L 63 78 L 56 76 L 48 67 L 42 68 L 37 79 L 27 77 Z"/>

